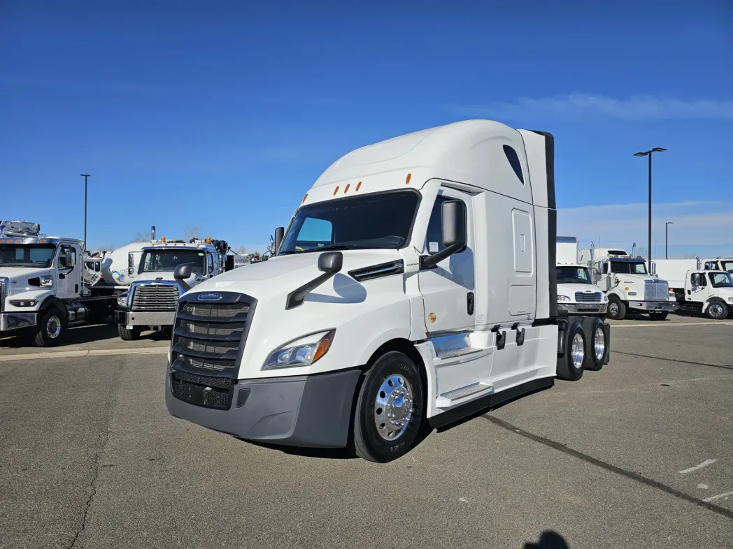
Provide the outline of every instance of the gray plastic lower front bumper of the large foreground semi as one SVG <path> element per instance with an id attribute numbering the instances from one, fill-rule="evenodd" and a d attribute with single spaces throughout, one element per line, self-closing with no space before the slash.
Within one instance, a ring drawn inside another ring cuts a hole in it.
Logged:
<path id="1" fill-rule="evenodd" d="M 348 440 L 361 371 L 240 380 L 230 392 L 226 410 L 199 406 L 174 396 L 173 375 L 174 370 L 167 367 L 166 407 L 174 417 L 251 441 L 342 448 Z M 206 387 L 194 388 L 198 392 L 202 389 Z"/>

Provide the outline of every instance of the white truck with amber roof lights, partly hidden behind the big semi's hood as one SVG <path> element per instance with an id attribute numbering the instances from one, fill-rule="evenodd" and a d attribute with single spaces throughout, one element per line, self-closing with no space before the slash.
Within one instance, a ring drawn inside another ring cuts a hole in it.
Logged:
<path id="1" fill-rule="evenodd" d="M 153 236 L 155 227 L 153 227 Z M 224 240 L 152 239 L 149 244 L 128 253 L 130 289 L 119 294 L 114 321 L 122 340 L 139 339 L 146 329 L 171 331 L 178 298 L 204 280 L 234 269 L 234 258 L 228 255 Z M 185 277 L 177 278 L 177 266 L 189 266 Z"/>

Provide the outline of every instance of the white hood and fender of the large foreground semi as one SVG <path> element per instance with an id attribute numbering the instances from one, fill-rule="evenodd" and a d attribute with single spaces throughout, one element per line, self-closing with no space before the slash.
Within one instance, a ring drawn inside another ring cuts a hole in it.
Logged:
<path id="1" fill-rule="evenodd" d="M 186 293 L 231 291 L 257 299 L 248 320 L 239 378 L 301 376 L 354 367 L 366 363 L 375 346 L 386 340 L 410 337 L 412 316 L 404 275 L 363 282 L 349 275 L 353 269 L 401 260 L 397 250 L 344 251 L 341 271 L 311 291 L 301 305 L 286 309 L 290 292 L 323 275 L 317 267 L 319 255 L 283 255 L 246 265 L 206 280 Z M 334 343 L 328 354 L 313 365 L 261 369 L 276 348 L 331 329 L 336 329 Z"/>

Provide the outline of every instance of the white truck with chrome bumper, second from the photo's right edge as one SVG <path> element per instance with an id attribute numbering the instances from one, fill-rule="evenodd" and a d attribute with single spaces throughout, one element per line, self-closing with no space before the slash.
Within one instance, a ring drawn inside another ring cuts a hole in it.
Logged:
<path id="1" fill-rule="evenodd" d="M 669 296 L 667 281 L 650 274 L 644 258 L 633 252 L 592 245 L 581 251 L 580 259 L 593 267 L 595 283 L 608 297 L 608 318 L 623 320 L 627 312 L 634 311 L 649 314 L 653 321 L 664 320 L 679 304 Z"/>

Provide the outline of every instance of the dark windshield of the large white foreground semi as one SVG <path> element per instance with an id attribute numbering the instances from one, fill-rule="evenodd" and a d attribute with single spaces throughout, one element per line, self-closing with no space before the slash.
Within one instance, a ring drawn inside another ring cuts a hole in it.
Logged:
<path id="1" fill-rule="evenodd" d="M 405 247 L 419 201 L 418 193 L 404 190 L 303 206 L 295 212 L 280 254 Z"/>

